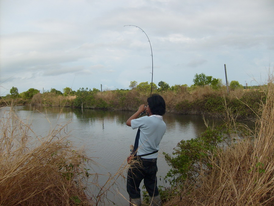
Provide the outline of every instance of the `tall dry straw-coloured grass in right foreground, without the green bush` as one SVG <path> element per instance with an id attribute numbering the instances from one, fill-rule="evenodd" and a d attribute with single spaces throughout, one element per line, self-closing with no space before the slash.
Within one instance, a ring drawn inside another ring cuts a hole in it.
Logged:
<path id="1" fill-rule="evenodd" d="M 265 92 L 255 139 L 219 150 L 212 170 L 165 205 L 274 205 L 274 78 Z"/>

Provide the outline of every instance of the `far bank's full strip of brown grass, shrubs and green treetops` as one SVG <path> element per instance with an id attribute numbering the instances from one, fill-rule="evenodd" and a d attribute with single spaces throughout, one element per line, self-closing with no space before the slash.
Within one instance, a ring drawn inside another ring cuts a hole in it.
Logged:
<path id="1" fill-rule="evenodd" d="M 229 93 L 222 80 L 196 74 L 194 84 L 169 86 L 160 81 L 158 87 L 153 83 L 152 92 L 163 96 L 167 104 L 167 112 L 177 114 L 213 114 L 223 117 L 224 104 L 227 105 L 238 118 L 255 118 L 261 101 L 265 102 L 265 93 L 262 87 L 243 87 L 238 81 L 231 81 Z M 65 88 L 64 93 L 51 89 L 40 93 L 37 89 L 29 89 L 21 94 L 17 88 L 12 88 L 10 93 L 0 100 L 0 104 L 43 104 L 47 106 L 78 107 L 104 110 L 130 110 L 135 111 L 140 104 L 146 103 L 150 96 L 151 84 L 148 82 L 137 83 L 131 81 L 131 90 L 107 90 L 80 88 L 72 91 Z M 16 93 L 17 89 L 17 93 Z M 240 101 L 239 101 L 240 100 Z"/>

